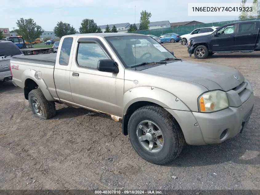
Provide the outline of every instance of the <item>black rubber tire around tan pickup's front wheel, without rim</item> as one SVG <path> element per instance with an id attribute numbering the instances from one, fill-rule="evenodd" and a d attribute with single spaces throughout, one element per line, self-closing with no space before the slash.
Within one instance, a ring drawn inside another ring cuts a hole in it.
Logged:
<path id="1" fill-rule="evenodd" d="M 162 131 L 164 145 L 158 152 L 150 152 L 138 140 L 138 125 L 145 120 L 157 124 Z M 182 151 L 185 143 L 182 130 L 177 121 L 164 108 L 156 105 L 139 108 L 130 116 L 128 134 L 130 142 L 139 156 L 157 165 L 163 165 L 175 159 Z"/>

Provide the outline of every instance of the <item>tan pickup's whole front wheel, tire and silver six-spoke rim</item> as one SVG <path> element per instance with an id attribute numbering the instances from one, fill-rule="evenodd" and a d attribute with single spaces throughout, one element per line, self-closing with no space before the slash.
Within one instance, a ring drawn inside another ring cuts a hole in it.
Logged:
<path id="1" fill-rule="evenodd" d="M 185 142 L 177 121 L 156 105 L 139 108 L 130 116 L 128 134 L 135 151 L 157 165 L 175 159 Z"/>

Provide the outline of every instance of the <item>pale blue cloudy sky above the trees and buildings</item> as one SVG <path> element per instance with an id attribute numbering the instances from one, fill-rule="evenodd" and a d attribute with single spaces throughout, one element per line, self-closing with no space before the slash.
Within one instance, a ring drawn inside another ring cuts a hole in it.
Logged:
<path id="1" fill-rule="evenodd" d="M 199 3 L 209 0 L 200 0 Z M 239 3 L 240 0 L 210 0 L 212 3 Z M 253 0 L 247 0 L 252 3 Z M 97 25 L 139 23 L 140 12 L 150 11 L 150 22 L 200 21 L 220 22 L 238 19 L 237 16 L 188 16 L 187 5 L 194 0 L 12 0 L 0 6 L 0 28 L 16 27 L 20 18 L 33 18 L 46 31 L 52 31 L 58 21 L 67 22 L 78 30 L 82 19 L 94 19 Z M 136 8 L 134 8 L 136 6 Z M 136 10 L 136 11 L 135 11 Z M 135 14 L 136 12 L 136 14 Z"/>

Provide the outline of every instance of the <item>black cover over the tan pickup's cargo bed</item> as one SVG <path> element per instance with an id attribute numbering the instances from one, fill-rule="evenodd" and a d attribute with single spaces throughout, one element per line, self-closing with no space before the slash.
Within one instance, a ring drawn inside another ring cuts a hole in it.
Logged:
<path id="1" fill-rule="evenodd" d="M 56 62 L 56 56 L 57 53 L 40 54 L 40 55 L 22 55 L 22 56 L 14 56 L 12 58 L 12 61 L 54 66 Z"/>

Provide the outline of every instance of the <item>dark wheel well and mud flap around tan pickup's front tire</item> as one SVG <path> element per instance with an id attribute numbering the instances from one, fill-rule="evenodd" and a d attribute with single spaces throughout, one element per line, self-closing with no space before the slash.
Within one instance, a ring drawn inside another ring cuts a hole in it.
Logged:
<path id="1" fill-rule="evenodd" d="M 148 102 L 148 101 L 139 101 L 131 104 L 129 108 L 126 110 L 126 114 L 123 116 L 123 121 L 122 121 L 122 133 L 126 136 L 128 135 L 128 121 L 130 119 L 130 116 L 136 111 L 138 108 L 141 108 L 143 106 L 147 105 L 158 105 L 153 102 Z"/>

